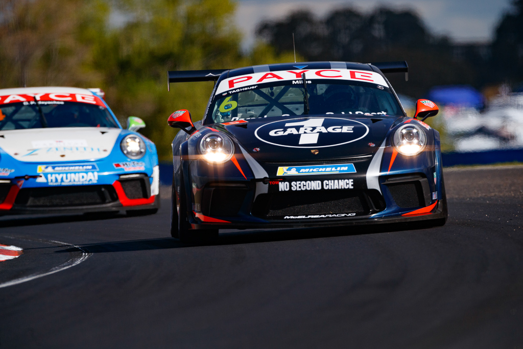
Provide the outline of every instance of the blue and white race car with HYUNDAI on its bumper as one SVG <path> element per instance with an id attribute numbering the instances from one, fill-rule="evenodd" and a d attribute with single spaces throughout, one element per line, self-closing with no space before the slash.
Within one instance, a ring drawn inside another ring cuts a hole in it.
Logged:
<path id="1" fill-rule="evenodd" d="M 100 89 L 0 89 L 0 216 L 160 207 L 154 143 L 122 129 Z"/>

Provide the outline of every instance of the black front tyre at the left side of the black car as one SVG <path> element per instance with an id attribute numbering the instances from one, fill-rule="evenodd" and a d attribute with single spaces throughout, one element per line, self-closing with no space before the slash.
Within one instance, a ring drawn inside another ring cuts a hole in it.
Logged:
<path id="1" fill-rule="evenodd" d="M 180 175 L 180 195 L 176 196 L 173 178 L 173 197 L 171 204 L 170 235 L 183 243 L 210 243 L 218 240 L 218 229 L 190 229 L 187 220 L 187 209 L 184 188 L 184 178 Z M 178 207 L 178 214 L 176 214 Z"/>

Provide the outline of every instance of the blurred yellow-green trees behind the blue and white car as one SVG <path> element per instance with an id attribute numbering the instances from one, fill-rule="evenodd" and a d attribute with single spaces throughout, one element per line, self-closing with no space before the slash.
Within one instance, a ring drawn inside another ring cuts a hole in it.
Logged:
<path id="1" fill-rule="evenodd" d="M 176 130 L 166 118 L 183 108 L 201 119 L 213 84 L 168 93 L 168 70 L 293 60 L 261 42 L 242 54 L 234 10 L 232 0 L 1 0 L 0 88 L 101 87 L 120 121 L 145 120 L 143 133 L 169 160 Z"/>

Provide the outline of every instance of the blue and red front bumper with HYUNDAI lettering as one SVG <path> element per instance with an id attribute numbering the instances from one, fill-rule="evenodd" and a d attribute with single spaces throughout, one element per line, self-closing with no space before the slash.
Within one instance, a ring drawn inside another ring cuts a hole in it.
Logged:
<path id="1" fill-rule="evenodd" d="M 1 179 L 0 216 L 137 210 L 160 205 L 157 166 L 149 171 L 144 168 L 139 173 L 108 171 L 59 175 Z M 79 181 L 81 179 L 85 181 Z"/>

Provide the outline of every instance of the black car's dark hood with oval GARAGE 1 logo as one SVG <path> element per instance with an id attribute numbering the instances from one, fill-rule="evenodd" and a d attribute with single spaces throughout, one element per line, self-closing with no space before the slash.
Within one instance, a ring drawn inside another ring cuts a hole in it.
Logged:
<path id="1" fill-rule="evenodd" d="M 324 115 L 246 120 L 226 129 L 260 162 L 300 162 L 370 155 L 397 118 Z"/>

